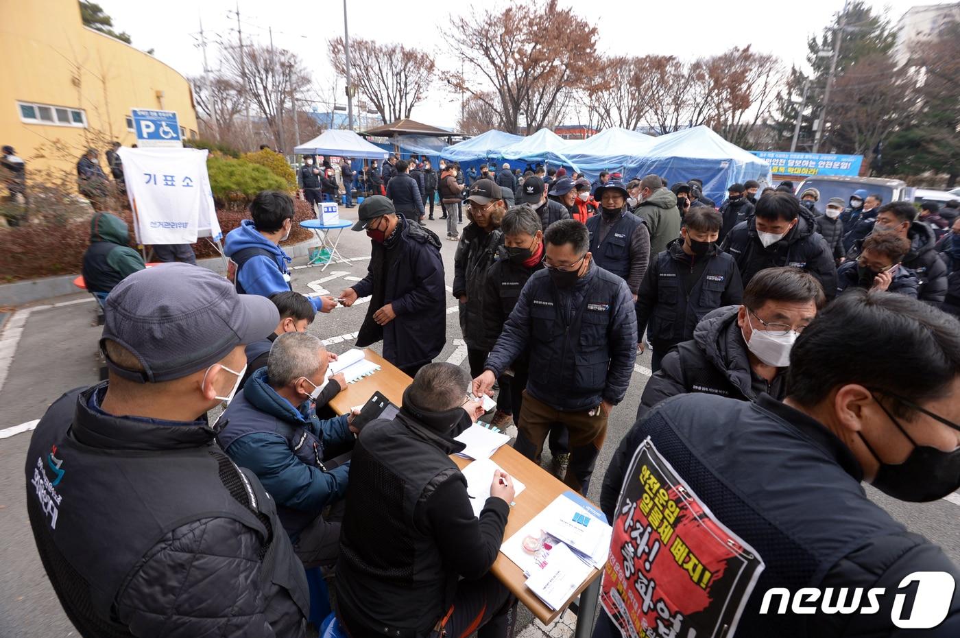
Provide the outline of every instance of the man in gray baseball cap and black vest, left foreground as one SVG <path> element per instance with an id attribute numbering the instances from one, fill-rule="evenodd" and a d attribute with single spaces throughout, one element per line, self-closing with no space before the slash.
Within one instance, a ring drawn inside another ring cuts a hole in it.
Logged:
<path id="1" fill-rule="evenodd" d="M 47 410 L 27 454 L 27 512 L 60 604 L 92 636 L 304 635 L 300 560 L 257 478 L 215 444 L 266 297 L 169 263 L 110 293 L 109 379 Z"/>

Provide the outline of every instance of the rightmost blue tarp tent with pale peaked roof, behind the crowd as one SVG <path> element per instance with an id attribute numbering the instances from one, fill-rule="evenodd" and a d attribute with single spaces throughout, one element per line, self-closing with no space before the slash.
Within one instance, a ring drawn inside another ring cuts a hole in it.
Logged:
<path id="1" fill-rule="evenodd" d="M 713 133 L 706 126 L 656 137 L 653 146 L 627 168 L 625 177 L 656 173 L 670 184 L 692 178 L 704 181 L 704 194 L 719 203 L 727 186 L 747 180 L 770 184 L 770 164 Z"/>

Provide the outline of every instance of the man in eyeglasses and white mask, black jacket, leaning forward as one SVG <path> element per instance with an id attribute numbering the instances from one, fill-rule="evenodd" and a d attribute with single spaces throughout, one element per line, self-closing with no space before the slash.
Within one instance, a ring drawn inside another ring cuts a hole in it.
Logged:
<path id="1" fill-rule="evenodd" d="M 826 303 L 824 289 L 799 268 L 767 268 L 743 291 L 742 306 L 717 308 L 693 331 L 693 338 L 663 356 L 647 381 L 636 410 L 679 394 L 706 392 L 740 401 L 786 392 L 790 349 Z"/>

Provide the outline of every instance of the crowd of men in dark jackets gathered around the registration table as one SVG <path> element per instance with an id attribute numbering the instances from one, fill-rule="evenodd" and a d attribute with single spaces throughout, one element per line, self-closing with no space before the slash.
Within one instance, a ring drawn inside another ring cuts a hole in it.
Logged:
<path id="1" fill-rule="evenodd" d="M 301 177 L 319 180 L 311 166 Z M 336 297 L 292 290 L 279 244 L 294 207 L 277 192 L 228 233 L 233 282 L 188 264 L 116 278 L 101 342 L 109 380 L 51 406 L 26 465 L 37 548 L 83 635 L 301 636 L 304 569 L 318 566 L 335 567 L 349 635 L 510 635 L 516 599 L 490 568 L 513 481 L 495 476 L 474 516 L 453 437 L 496 387 L 492 419 L 516 424 L 516 450 L 540 463 L 547 447 L 551 472 L 587 494 L 647 347 L 654 374 L 634 388 L 636 425 L 615 442 L 601 490 L 611 520 L 650 437 L 762 554 L 760 594 L 896 587 L 917 566 L 960 576 L 860 486 L 904 501 L 960 487 L 960 323 L 949 314 L 960 222 L 937 242 L 942 210 L 918 216 L 869 193 L 821 215 L 804 204 L 819 193 L 798 198 L 788 184 L 759 196 L 756 182 L 732 184 L 717 206 L 697 180 L 483 168 L 462 183 L 444 162 L 436 183 L 458 242 L 452 295 L 469 374 L 434 362 L 450 293 L 419 162 L 385 162 L 384 194 L 364 199 L 353 226 L 371 239 L 367 275 Z M 108 250 L 98 264 L 126 258 Z M 355 411 L 329 409 L 346 383 L 327 379 L 335 356 L 305 331 L 316 312 L 365 297 L 356 345 L 382 341 L 413 381 L 395 418 L 361 430 Z M 105 529 L 90 516 L 97 503 L 127 524 Z M 810 511 L 824 521 L 808 525 Z M 746 635 L 800 631 L 756 613 L 756 592 Z M 885 635 L 876 618 L 848 620 Z M 845 635 L 831 620 L 810 619 L 809 635 Z M 958 622 L 954 598 L 948 626 Z M 610 630 L 602 617 L 598 635 Z"/>

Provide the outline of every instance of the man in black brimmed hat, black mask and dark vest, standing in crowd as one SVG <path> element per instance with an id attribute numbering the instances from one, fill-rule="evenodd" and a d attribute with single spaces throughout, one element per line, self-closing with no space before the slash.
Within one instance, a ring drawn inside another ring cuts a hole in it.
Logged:
<path id="1" fill-rule="evenodd" d="M 677 198 L 670 191 L 666 192 L 676 203 Z M 590 233 L 590 254 L 597 265 L 627 282 L 636 302 L 636 291 L 650 265 L 653 239 L 646 222 L 627 209 L 628 196 L 629 191 L 619 180 L 598 186 L 596 198 L 600 202 L 600 214 L 587 220 L 587 230 Z M 673 212 L 679 228 L 680 213 L 676 206 Z"/>

